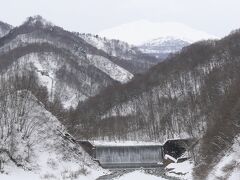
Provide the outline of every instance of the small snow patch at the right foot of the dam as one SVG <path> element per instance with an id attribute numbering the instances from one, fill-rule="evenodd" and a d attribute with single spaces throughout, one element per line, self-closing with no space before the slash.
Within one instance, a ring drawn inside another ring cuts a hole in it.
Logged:
<path id="1" fill-rule="evenodd" d="M 166 175 L 170 177 L 191 180 L 193 179 L 193 166 L 194 164 L 190 160 L 182 163 L 171 163 L 165 168 L 167 170 Z"/>

